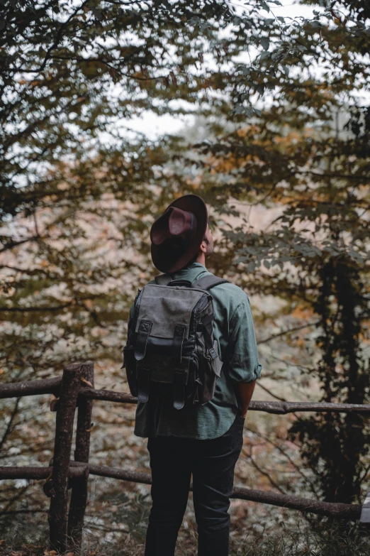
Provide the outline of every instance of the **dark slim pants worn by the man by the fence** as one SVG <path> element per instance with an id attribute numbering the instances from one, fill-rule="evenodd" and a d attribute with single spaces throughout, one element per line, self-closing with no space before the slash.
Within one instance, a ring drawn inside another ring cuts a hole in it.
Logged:
<path id="1" fill-rule="evenodd" d="M 174 556 L 186 510 L 191 474 L 198 524 L 198 556 L 227 556 L 230 495 L 242 449 L 244 419 L 237 415 L 223 436 L 210 440 L 149 438 L 152 509 L 145 556 Z"/>

